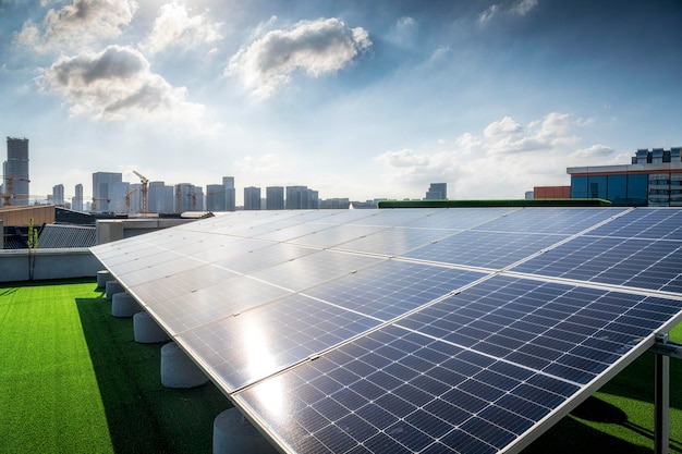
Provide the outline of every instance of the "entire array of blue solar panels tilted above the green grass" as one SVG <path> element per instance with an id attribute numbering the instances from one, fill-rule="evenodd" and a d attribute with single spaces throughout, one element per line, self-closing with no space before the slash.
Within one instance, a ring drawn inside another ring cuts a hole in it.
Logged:
<path id="1" fill-rule="evenodd" d="M 519 452 L 682 320 L 682 210 L 243 211 L 93 248 L 283 452 Z"/>

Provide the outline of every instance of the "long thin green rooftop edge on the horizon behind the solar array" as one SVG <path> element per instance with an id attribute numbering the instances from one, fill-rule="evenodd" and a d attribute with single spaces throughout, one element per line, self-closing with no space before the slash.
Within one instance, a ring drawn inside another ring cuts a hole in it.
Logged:
<path id="1" fill-rule="evenodd" d="M 380 200 L 381 208 L 508 208 L 508 207 L 610 207 L 601 198 L 536 198 L 508 200 Z"/>

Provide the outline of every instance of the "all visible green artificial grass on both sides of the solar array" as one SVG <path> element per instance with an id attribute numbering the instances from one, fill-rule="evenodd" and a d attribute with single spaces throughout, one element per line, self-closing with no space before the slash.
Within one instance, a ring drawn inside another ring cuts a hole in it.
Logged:
<path id="1" fill-rule="evenodd" d="M 95 286 L 0 286 L 0 453 L 209 453 L 227 397 L 163 388 L 160 345 L 135 343 Z M 682 326 L 670 336 L 682 342 Z M 682 361 L 670 367 L 670 452 L 682 453 Z M 525 452 L 653 452 L 653 373 L 646 353 Z"/>

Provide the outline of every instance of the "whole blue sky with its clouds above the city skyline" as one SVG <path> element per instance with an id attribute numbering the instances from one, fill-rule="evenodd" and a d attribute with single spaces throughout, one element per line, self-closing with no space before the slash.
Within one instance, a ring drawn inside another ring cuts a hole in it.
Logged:
<path id="1" fill-rule="evenodd" d="M 521 198 L 682 145 L 680 1 L 0 0 L 31 193 L 92 173 Z M 4 155 L 4 154 L 3 154 Z"/>

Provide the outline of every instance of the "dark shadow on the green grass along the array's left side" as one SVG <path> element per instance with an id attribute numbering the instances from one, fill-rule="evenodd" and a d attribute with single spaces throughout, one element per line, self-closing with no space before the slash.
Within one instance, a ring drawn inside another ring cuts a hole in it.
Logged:
<path id="1" fill-rule="evenodd" d="M 138 344 L 132 318 L 101 295 L 77 298 L 81 324 L 117 453 L 209 453 L 214 418 L 231 406 L 212 384 L 161 385 L 161 344 Z"/>

